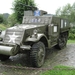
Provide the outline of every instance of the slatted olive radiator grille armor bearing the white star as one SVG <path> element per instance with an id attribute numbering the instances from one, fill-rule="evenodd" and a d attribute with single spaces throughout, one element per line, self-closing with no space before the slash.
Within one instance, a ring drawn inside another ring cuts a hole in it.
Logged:
<path id="1" fill-rule="evenodd" d="M 24 31 L 22 29 L 8 29 L 6 30 L 5 37 L 3 39 L 4 43 L 8 44 L 19 44 L 22 42 Z"/>

